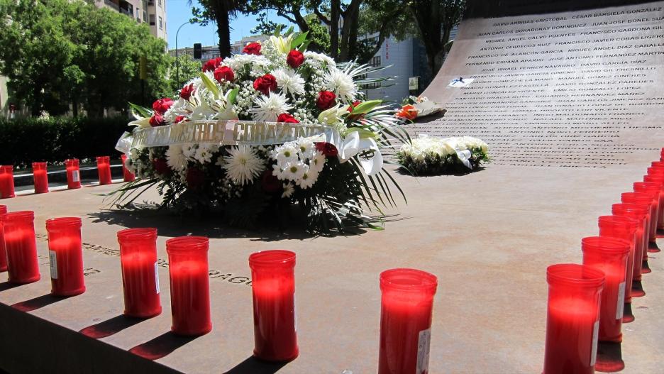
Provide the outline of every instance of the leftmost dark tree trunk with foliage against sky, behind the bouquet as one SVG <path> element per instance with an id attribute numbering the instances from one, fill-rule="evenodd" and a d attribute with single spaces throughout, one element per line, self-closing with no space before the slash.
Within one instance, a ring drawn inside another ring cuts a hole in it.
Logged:
<path id="1" fill-rule="evenodd" d="M 192 6 L 192 0 L 188 0 L 189 6 Z M 202 9 L 193 7 L 192 21 L 206 26 L 210 21 L 217 24 L 217 34 L 219 35 L 219 53 L 221 57 L 231 55 L 231 18 L 235 17 L 238 10 L 243 9 L 243 1 L 238 0 L 199 0 Z"/>

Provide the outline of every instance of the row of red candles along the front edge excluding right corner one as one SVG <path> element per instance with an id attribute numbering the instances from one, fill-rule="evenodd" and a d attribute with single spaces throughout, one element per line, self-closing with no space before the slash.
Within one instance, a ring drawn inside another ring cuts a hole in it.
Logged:
<path id="1" fill-rule="evenodd" d="M 40 279 L 33 211 L 7 213 L 0 205 L 0 271 L 9 282 Z M 46 221 L 51 292 L 85 292 L 82 221 L 64 217 Z M 119 231 L 124 314 L 150 318 L 162 312 L 157 270 L 157 229 Z M 182 236 L 166 241 L 169 261 L 172 332 L 201 335 L 212 329 L 207 252 L 209 239 Z M 295 323 L 295 253 L 262 251 L 249 256 L 253 290 L 254 355 L 265 361 L 298 356 Z M 380 274 L 379 373 L 426 373 L 435 275 L 414 269 Z M 426 353 L 426 356 L 423 354 Z M 418 359 L 419 357 L 419 359 Z M 424 359 L 426 357 L 426 359 Z M 415 371 L 417 369 L 417 371 Z"/>

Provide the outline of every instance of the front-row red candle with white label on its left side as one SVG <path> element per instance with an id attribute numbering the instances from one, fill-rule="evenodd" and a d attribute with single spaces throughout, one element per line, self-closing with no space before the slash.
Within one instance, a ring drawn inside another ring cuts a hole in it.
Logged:
<path id="1" fill-rule="evenodd" d="M 46 221 L 51 293 L 58 296 L 85 292 L 81 219 L 63 217 Z"/>

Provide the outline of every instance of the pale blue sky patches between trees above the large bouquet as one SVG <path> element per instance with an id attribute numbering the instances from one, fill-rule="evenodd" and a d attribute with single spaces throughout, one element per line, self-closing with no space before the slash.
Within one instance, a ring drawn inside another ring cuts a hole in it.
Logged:
<path id="1" fill-rule="evenodd" d="M 187 6 L 187 0 L 166 0 L 166 27 L 168 32 L 168 49 L 175 48 L 175 34 L 177 28 L 192 18 L 192 9 Z M 198 4 L 194 0 L 194 4 Z M 287 23 L 284 18 L 275 13 L 269 13 L 270 21 L 277 23 Z M 231 43 L 242 39 L 243 36 L 251 35 L 252 28 L 258 26 L 256 16 L 239 14 L 238 18 L 231 20 Z M 216 33 L 216 24 L 209 23 L 208 26 L 199 26 L 196 24 L 187 24 L 182 26 L 177 35 L 177 47 L 193 47 L 194 43 L 203 45 L 217 45 L 218 36 Z"/>

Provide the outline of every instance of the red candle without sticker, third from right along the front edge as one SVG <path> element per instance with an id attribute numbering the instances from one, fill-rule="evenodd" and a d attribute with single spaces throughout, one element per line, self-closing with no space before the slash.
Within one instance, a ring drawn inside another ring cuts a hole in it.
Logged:
<path id="1" fill-rule="evenodd" d="M 295 253 L 262 251 L 249 256 L 254 314 L 254 356 L 265 361 L 297 358 Z"/>

